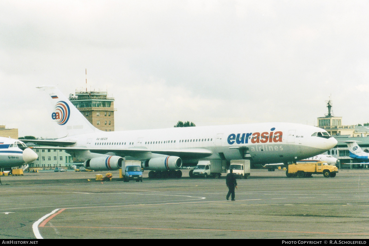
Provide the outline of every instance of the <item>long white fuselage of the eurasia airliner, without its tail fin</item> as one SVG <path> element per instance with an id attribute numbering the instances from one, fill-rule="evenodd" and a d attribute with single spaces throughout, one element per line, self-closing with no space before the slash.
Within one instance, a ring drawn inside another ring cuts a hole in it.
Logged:
<path id="1" fill-rule="evenodd" d="M 312 136 L 325 132 L 318 127 L 294 123 L 260 123 L 229 126 L 182 127 L 156 130 L 133 130 L 87 133 L 60 138 L 76 141 L 72 147 L 127 150 L 184 150 L 206 149 L 211 155 L 206 159 L 243 159 L 251 157 L 253 164 L 296 161 L 321 154 L 337 144 L 333 137 Z M 80 159 L 97 157 L 89 151 L 73 152 Z M 130 157 L 145 160 L 156 154 L 131 154 Z M 127 157 L 127 156 L 126 156 Z M 192 159 L 191 157 L 182 159 Z"/>

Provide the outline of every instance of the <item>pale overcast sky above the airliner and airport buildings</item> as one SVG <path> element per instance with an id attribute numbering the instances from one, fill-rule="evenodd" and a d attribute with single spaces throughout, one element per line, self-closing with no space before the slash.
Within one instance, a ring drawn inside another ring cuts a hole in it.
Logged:
<path id="1" fill-rule="evenodd" d="M 56 137 L 37 86 L 115 97 L 115 130 L 369 122 L 368 1 L 0 1 L 0 124 Z"/>

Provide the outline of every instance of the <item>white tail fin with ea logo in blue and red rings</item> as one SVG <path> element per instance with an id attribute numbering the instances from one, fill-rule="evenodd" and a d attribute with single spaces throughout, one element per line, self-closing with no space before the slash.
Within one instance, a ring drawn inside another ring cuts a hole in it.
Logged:
<path id="1" fill-rule="evenodd" d="M 47 99 L 45 106 L 58 138 L 100 131 L 55 86 L 44 85 L 37 88 Z"/>

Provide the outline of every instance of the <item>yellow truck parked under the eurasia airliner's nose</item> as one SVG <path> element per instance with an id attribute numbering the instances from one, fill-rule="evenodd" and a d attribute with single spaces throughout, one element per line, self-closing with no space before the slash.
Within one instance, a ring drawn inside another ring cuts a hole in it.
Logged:
<path id="1" fill-rule="evenodd" d="M 312 174 L 323 174 L 325 178 L 334 178 L 336 176 L 336 173 L 338 173 L 337 166 L 328 165 L 328 163 L 324 161 L 318 161 L 288 165 L 286 176 L 309 178 Z"/>

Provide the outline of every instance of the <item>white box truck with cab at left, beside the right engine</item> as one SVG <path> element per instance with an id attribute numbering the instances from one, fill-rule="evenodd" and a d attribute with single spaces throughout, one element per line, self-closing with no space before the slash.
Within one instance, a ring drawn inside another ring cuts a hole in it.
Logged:
<path id="1" fill-rule="evenodd" d="M 196 167 L 190 171 L 190 177 L 220 178 L 222 173 L 221 160 L 199 161 Z"/>

